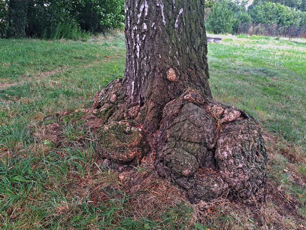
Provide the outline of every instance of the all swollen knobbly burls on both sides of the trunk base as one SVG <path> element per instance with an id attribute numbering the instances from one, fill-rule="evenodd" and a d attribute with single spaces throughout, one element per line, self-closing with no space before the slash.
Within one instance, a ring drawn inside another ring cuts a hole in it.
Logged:
<path id="1" fill-rule="evenodd" d="M 95 139 L 103 158 L 135 165 L 150 144 L 158 174 L 172 178 L 192 202 L 229 192 L 251 197 L 263 188 L 268 155 L 259 123 L 244 111 L 188 90 L 166 104 L 148 143 L 150 134 L 137 124 L 141 108 L 124 95 L 121 79 L 95 94 L 95 115 L 106 122 Z"/>

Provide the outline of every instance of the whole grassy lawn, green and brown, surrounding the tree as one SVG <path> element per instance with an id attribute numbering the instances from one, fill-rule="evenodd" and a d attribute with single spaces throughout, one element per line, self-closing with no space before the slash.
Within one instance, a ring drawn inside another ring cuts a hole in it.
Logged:
<path id="1" fill-rule="evenodd" d="M 88 42 L 0 40 L 0 229 L 303 229 L 305 41 L 224 36 L 208 51 L 214 98 L 262 123 L 266 201 L 191 205 L 152 170 L 154 155 L 119 174 L 96 157 L 90 128 L 54 135 L 39 123 L 89 108 L 96 91 L 123 75 L 121 33 Z"/>

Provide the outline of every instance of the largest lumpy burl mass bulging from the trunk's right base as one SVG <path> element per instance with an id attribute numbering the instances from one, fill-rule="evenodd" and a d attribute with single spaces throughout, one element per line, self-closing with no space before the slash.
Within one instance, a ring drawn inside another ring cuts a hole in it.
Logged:
<path id="1" fill-rule="evenodd" d="M 249 197 L 266 182 L 259 123 L 242 110 L 188 91 L 163 109 L 156 170 L 187 189 L 191 201 L 229 191 Z"/>

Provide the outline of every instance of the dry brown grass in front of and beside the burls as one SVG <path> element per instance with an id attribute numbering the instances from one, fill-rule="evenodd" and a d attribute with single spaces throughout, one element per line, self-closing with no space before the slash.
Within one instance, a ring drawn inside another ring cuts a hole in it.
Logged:
<path id="1" fill-rule="evenodd" d="M 95 124 L 94 121 L 91 123 Z M 49 127 L 57 128 L 56 125 L 49 125 Z M 54 131 L 47 131 L 43 128 L 40 131 L 43 132 L 42 139 L 44 139 L 43 136 L 47 136 L 53 140 Z M 264 133 L 264 138 L 268 143 L 270 163 L 282 161 L 284 156 L 278 151 L 279 145 L 275 143 L 277 139 L 267 136 L 266 133 Z M 291 148 L 289 150 L 292 151 Z M 155 152 L 151 152 L 144 157 L 138 167 L 118 173 L 103 168 L 103 161 L 97 156 L 93 167 L 84 167 L 86 173 L 83 177 L 76 173 L 69 175 L 71 183 L 68 185 L 68 190 L 70 192 L 66 198 L 70 203 L 65 201 L 56 205 L 54 215 L 68 215 L 72 210 L 77 209 L 80 202 L 86 202 L 95 207 L 101 205 L 123 207 L 123 210 L 118 209 L 116 214 L 112 214 L 114 226 L 122 220 L 124 215 L 133 217 L 135 220 L 142 218 L 157 220 L 162 226 L 164 213 L 170 213 L 174 222 L 184 224 L 185 229 L 192 229 L 195 223 L 201 223 L 205 228 L 218 230 L 289 230 L 304 229 L 306 225 L 299 212 L 298 199 L 269 177 L 265 190 L 252 199 L 241 200 L 229 195 L 192 205 L 176 185 L 157 175 L 154 160 Z M 287 162 L 284 168 L 293 172 L 290 182 L 305 185 L 305 177 L 297 172 L 295 164 Z M 273 165 L 269 164 L 267 170 L 268 174 L 273 174 Z M 124 204 L 121 203 L 122 199 L 125 199 Z M 186 215 L 177 214 L 182 209 L 182 205 L 192 211 L 187 212 Z M 167 229 L 167 226 L 165 225 L 164 228 Z"/>

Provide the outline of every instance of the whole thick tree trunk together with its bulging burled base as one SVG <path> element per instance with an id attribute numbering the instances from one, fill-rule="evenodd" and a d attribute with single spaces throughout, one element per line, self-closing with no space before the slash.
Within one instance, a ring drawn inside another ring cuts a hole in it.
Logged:
<path id="1" fill-rule="evenodd" d="M 268 156 L 259 123 L 211 96 L 204 0 L 126 0 L 125 43 L 123 79 L 94 97 L 105 121 L 96 152 L 136 165 L 156 151 L 156 171 L 193 202 L 260 191 Z"/>

